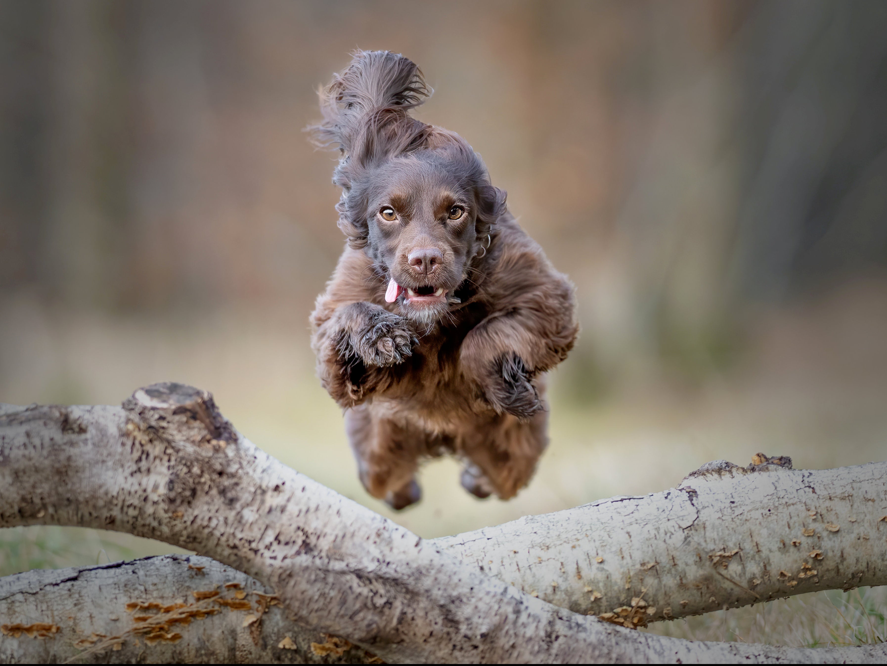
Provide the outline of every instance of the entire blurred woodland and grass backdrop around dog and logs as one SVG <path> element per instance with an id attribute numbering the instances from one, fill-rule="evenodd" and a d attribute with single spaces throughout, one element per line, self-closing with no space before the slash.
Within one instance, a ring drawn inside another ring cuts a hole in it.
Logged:
<path id="1" fill-rule="evenodd" d="M 757 451 L 883 460 L 885 35 L 875 0 L 4 0 L 0 401 L 206 388 L 263 449 L 423 537 Z M 420 65 L 436 93 L 417 115 L 467 138 L 576 283 L 551 446 L 510 502 L 440 460 L 420 505 L 389 512 L 313 375 L 307 319 L 343 238 L 335 156 L 302 128 L 355 48 Z M 4 529 L 0 574 L 174 550 Z M 837 595 L 781 613 L 819 634 L 755 639 L 840 642 L 810 619 Z M 883 589 L 864 596 L 883 623 Z M 693 635 L 772 626 L 742 612 Z"/>

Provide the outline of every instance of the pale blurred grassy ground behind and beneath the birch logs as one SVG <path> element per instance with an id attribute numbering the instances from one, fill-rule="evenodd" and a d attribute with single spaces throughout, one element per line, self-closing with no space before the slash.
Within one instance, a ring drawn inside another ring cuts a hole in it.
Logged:
<path id="1" fill-rule="evenodd" d="M 0 401 L 119 404 L 158 380 L 208 388 L 235 426 L 271 455 L 422 537 L 437 537 L 664 490 L 717 458 L 744 465 L 764 451 L 789 455 L 805 468 L 887 458 L 884 296 L 842 297 L 762 320 L 742 364 L 704 384 L 650 381 L 583 403 L 555 372 L 550 448 L 530 487 L 509 502 L 467 495 L 449 459 L 423 468 L 424 498 L 403 513 L 367 496 L 341 413 L 312 376 L 304 325 L 267 313 L 157 322 L 0 302 Z M 96 530 L 0 529 L 0 575 L 162 552 L 181 551 Z M 887 589 L 875 588 L 802 595 L 645 631 L 790 646 L 853 644 L 887 638 L 884 615 Z"/>

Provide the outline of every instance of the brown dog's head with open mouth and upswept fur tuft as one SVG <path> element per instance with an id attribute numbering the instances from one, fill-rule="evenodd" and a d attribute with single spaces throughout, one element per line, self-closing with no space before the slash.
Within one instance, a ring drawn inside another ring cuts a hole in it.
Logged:
<path id="1" fill-rule="evenodd" d="M 419 67 L 389 51 L 357 51 L 321 91 L 319 145 L 338 145 L 339 227 L 387 280 L 386 300 L 431 323 L 447 310 L 505 192 L 465 139 L 409 114 L 430 90 Z"/>

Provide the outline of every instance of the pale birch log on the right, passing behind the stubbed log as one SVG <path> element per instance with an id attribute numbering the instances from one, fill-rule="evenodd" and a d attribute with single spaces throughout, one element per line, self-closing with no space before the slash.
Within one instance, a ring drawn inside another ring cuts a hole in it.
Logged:
<path id="1" fill-rule="evenodd" d="M 676 489 L 436 543 L 577 613 L 641 599 L 648 622 L 887 584 L 887 462 L 792 470 L 758 456 L 748 468 L 710 463 Z"/>

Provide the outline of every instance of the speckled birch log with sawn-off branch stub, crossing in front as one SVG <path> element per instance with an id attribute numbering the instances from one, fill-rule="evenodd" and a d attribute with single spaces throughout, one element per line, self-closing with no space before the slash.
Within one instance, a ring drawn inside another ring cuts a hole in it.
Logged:
<path id="1" fill-rule="evenodd" d="M 281 466 L 204 392 L 157 385 L 124 407 L 7 410 L 0 526 L 118 529 L 191 548 L 270 585 L 294 622 L 386 661 L 865 662 L 887 654 L 883 646 L 693 643 L 600 623 L 467 566 Z M 883 504 L 883 486 L 871 491 Z"/>

